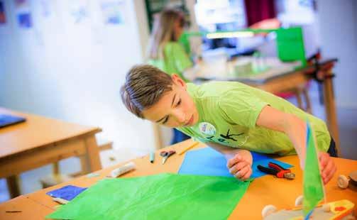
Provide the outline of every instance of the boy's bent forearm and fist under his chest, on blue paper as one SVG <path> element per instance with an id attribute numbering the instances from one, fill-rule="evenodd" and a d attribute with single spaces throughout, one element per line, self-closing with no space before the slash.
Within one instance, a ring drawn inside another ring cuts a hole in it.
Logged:
<path id="1" fill-rule="evenodd" d="M 227 147 L 219 143 L 209 142 L 206 144 L 226 157 L 227 168 L 231 175 L 234 175 L 234 177 L 240 180 L 246 180 L 251 177 L 253 172 L 251 168 L 253 164 L 251 152 L 248 150 Z"/>

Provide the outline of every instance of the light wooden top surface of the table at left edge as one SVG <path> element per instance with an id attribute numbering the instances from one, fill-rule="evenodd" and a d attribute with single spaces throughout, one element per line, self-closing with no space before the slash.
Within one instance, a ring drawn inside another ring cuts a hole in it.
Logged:
<path id="1" fill-rule="evenodd" d="M 81 126 L 33 114 L 0 108 L 0 114 L 26 118 L 26 122 L 0 128 L 0 159 L 26 150 L 66 141 L 77 136 L 94 134 L 101 128 Z"/>

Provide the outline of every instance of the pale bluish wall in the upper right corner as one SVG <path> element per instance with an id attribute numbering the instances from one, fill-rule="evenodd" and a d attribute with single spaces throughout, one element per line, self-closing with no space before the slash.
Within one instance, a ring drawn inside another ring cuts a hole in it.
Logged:
<path id="1" fill-rule="evenodd" d="M 337 106 L 357 109 L 357 1 L 318 0 L 322 55 L 338 57 L 334 68 Z"/>

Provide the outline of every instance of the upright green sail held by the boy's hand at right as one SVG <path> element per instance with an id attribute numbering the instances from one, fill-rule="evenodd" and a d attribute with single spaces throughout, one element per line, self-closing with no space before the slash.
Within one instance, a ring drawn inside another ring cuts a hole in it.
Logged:
<path id="1" fill-rule="evenodd" d="M 307 149 L 304 167 L 304 216 L 324 198 L 324 184 L 322 182 L 319 169 L 319 157 L 317 155 L 317 146 L 314 140 L 314 131 L 307 123 Z"/>

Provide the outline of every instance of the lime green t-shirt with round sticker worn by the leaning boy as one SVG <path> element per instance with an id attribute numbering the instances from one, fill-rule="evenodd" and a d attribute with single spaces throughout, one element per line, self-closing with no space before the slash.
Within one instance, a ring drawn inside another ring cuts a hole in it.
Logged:
<path id="1" fill-rule="evenodd" d="M 319 150 L 326 152 L 329 148 L 331 136 L 324 121 L 273 94 L 240 82 L 208 82 L 199 86 L 188 83 L 187 91 L 197 106 L 199 121 L 192 127 L 177 129 L 199 141 L 259 153 L 296 154 L 285 133 L 256 126 L 260 111 L 270 105 L 309 120 Z"/>

